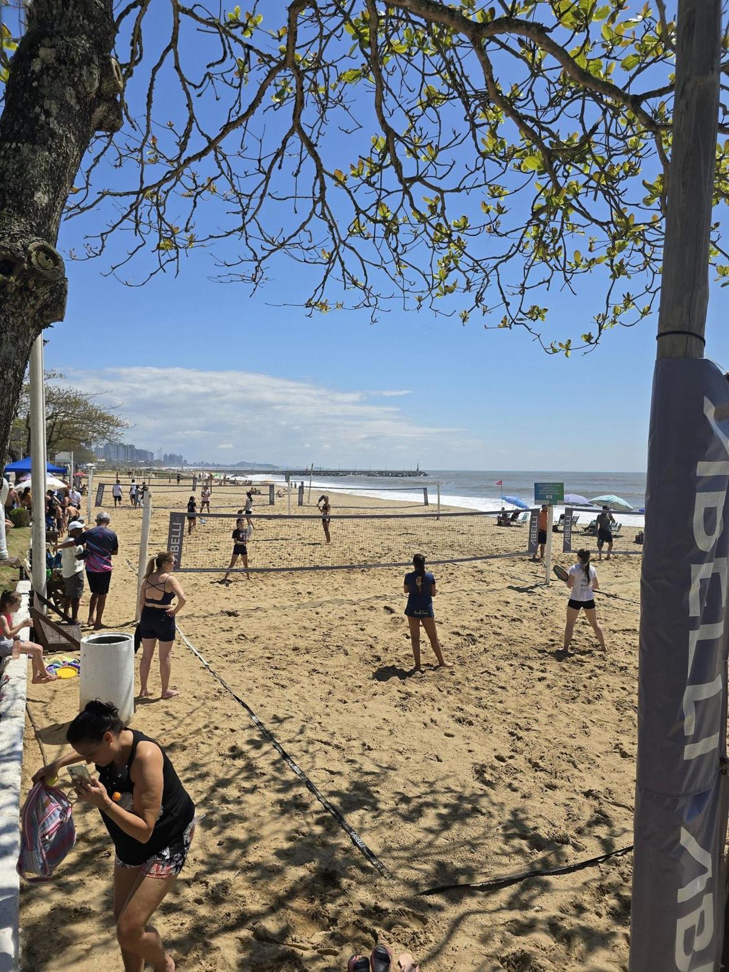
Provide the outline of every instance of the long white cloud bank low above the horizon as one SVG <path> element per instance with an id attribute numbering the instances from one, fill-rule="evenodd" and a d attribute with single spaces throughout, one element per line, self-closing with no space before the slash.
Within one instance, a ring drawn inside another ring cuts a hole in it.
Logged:
<path id="1" fill-rule="evenodd" d="M 438 468 L 446 451 L 466 458 L 483 448 L 463 429 L 430 426 L 436 412 L 429 416 L 426 403 L 413 417 L 395 403 L 368 400 L 411 394 L 406 391 L 342 392 L 269 374 L 183 367 L 69 369 L 66 375 L 84 390 L 106 389 L 105 403 L 133 425 L 128 440 L 183 452 L 191 461 L 225 449 L 231 462 L 308 464 L 327 453 L 336 463 L 356 464 L 365 452 L 368 464 L 398 455 L 404 466 Z"/>

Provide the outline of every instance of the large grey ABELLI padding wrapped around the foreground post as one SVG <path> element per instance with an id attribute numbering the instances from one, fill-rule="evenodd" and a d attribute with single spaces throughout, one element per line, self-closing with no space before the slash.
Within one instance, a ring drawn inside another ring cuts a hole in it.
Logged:
<path id="1" fill-rule="evenodd" d="M 712 972 L 724 923 L 729 384 L 712 362 L 653 377 L 631 920 L 632 972 Z"/>

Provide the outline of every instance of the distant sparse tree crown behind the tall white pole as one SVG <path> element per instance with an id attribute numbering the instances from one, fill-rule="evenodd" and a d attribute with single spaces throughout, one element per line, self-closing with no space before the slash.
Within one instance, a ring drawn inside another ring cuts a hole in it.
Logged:
<path id="1" fill-rule="evenodd" d="M 113 409 L 100 405 L 102 392 L 83 392 L 65 384 L 59 371 L 46 372 L 46 445 L 49 456 L 56 452 L 75 452 L 83 461 L 91 446 L 120 441 L 129 423 Z M 11 432 L 14 461 L 30 455 L 30 388 L 25 381 L 20 393 L 17 417 Z"/>

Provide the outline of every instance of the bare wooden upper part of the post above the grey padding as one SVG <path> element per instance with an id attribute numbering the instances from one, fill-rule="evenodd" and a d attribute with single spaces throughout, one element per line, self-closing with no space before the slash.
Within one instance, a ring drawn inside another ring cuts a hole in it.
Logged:
<path id="1" fill-rule="evenodd" d="M 719 109 L 721 0 L 679 0 L 658 358 L 703 358 Z"/>

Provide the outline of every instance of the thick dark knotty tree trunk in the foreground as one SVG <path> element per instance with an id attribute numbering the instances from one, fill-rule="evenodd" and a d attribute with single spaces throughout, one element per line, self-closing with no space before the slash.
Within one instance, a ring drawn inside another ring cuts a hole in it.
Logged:
<path id="1" fill-rule="evenodd" d="M 35 0 L 0 116 L 0 461 L 30 348 L 62 321 L 68 281 L 55 249 L 95 131 L 121 128 L 112 0 Z"/>

